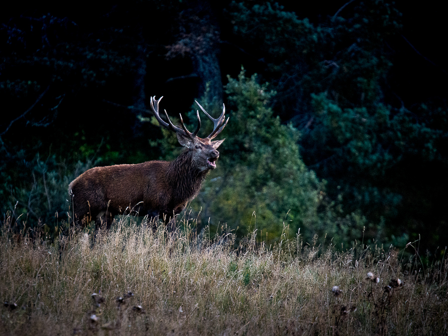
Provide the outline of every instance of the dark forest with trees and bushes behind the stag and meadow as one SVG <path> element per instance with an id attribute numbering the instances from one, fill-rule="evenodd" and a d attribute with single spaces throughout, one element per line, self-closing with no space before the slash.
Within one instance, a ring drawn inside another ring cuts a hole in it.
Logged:
<path id="1" fill-rule="evenodd" d="M 86 169 L 178 155 L 146 111 L 164 96 L 173 119 L 194 124 L 195 99 L 230 116 L 218 169 L 187 210 L 199 230 L 443 248 L 441 4 L 289 2 L 3 5 L 1 221 L 57 233 Z"/>

